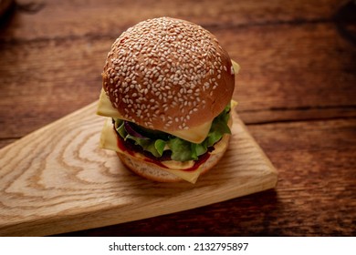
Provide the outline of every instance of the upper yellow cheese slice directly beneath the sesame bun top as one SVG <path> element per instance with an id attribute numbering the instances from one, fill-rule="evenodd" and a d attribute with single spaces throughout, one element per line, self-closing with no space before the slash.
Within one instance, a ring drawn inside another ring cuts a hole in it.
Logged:
<path id="1" fill-rule="evenodd" d="M 109 97 L 106 95 L 104 89 L 101 89 L 99 104 L 97 108 L 97 114 L 99 116 L 104 117 L 117 117 L 120 119 L 125 119 L 120 115 L 118 109 L 112 107 Z M 212 126 L 212 121 L 205 122 L 204 124 L 195 127 L 189 128 L 189 130 L 175 130 L 175 131 L 165 131 L 177 138 L 182 138 L 184 140 L 193 142 L 193 143 L 201 143 L 204 141 L 204 138 L 207 137 L 209 130 Z"/>

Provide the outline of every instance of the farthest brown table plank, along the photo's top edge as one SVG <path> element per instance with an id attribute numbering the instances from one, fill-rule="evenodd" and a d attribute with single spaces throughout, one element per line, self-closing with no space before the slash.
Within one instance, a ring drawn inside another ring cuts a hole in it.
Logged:
<path id="1" fill-rule="evenodd" d="M 24 3 L 25 2 L 25 3 Z M 112 36 L 141 20 L 168 15 L 203 26 L 248 26 L 266 23 L 330 20 L 342 3 L 338 0 L 299 1 L 55 1 L 35 3 L 32 10 L 16 1 L 3 40 L 34 40 L 78 36 Z M 26 11 L 27 10 L 27 11 Z M 29 14 L 30 13 L 30 14 Z M 46 21 L 46 22 L 44 22 Z"/>

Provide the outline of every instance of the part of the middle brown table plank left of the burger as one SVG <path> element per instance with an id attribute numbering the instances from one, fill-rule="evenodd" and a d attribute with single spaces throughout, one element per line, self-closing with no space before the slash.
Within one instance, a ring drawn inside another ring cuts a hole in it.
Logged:
<path id="1" fill-rule="evenodd" d="M 97 100 L 110 43 L 68 39 L 1 47 L 0 138 L 23 137 Z"/>

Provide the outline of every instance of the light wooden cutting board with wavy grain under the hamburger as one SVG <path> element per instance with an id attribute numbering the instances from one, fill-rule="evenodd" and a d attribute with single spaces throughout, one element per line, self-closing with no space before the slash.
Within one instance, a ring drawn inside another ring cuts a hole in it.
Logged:
<path id="1" fill-rule="evenodd" d="M 0 236 L 86 230 L 272 189 L 277 172 L 235 114 L 224 158 L 197 183 L 156 183 L 100 149 L 97 102 L 0 150 Z"/>

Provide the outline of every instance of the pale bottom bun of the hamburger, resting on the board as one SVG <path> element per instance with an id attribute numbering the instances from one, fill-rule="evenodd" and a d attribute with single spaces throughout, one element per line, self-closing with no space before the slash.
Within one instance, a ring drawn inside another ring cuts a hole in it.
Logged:
<path id="1" fill-rule="evenodd" d="M 203 164 L 199 166 L 201 169 L 201 175 L 207 172 L 209 169 L 213 168 L 216 163 L 223 158 L 225 151 L 228 147 L 228 140 L 230 136 L 225 135 L 219 142 L 215 144 L 215 147 L 219 148 L 218 151 L 208 152 L 209 158 L 204 161 Z M 143 158 L 136 158 L 127 153 L 117 152 L 121 162 L 132 172 L 141 176 L 145 179 L 151 179 L 158 182 L 178 182 L 182 181 L 180 177 L 173 175 L 170 172 L 167 172 L 165 169 L 159 165 L 156 165 L 152 162 L 147 162 Z"/>

